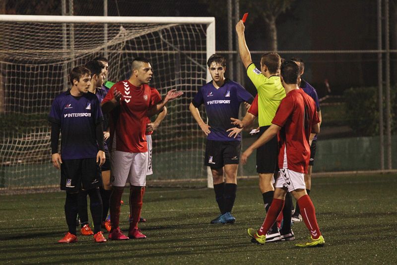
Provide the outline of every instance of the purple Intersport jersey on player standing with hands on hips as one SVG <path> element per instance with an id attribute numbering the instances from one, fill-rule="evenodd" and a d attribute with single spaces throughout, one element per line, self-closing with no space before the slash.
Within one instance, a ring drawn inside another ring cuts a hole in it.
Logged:
<path id="1" fill-rule="evenodd" d="M 228 80 L 218 89 L 212 81 L 202 86 L 192 103 L 195 107 L 201 104 L 205 106 L 208 117 L 209 130 L 207 139 L 214 141 L 241 141 L 241 134 L 236 138 L 229 137 L 227 129 L 234 127 L 230 118 L 238 118 L 239 108 L 242 102 L 252 103 L 254 97 L 240 84 Z"/>

